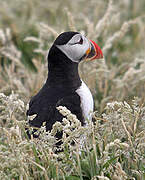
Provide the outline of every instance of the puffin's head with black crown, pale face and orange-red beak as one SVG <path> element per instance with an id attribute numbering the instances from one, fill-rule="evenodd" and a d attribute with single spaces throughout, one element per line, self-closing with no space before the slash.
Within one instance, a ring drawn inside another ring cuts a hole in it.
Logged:
<path id="1" fill-rule="evenodd" d="M 79 63 L 82 60 L 103 58 L 101 48 L 94 41 L 87 39 L 78 32 L 61 33 L 54 41 L 52 47 L 52 49 L 55 47 L 59 49 L 69 60 L 75 63 Z"/>

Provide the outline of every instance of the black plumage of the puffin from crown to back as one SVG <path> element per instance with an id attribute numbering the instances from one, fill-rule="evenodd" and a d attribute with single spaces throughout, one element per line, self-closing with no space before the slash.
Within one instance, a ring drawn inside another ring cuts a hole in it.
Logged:
<path id="1" fill-rule="evenodd" d="M 27 116 L 37 114 L 29 121 L 32 127 L 41 127 L 46 122 L 46 130 L 51 130 L 56 121 L 62 121 L 63 116 L 56 109 L 66 106 L 84 124 L 80 97 L 75 92 L 81 86 L 78 74 L 78 63 L 71 61 L 56 45 L 65 44 L 77 32 L 67 32 L 58 37 L 48 54 L 48 78 L 41 90 L 32 97 Z M 28 133 L 28 132 L 27 132 Z M 28 133 L 29 134 L 29 133 Z M 37 137 L 36 135 L 33 135 Z"/>

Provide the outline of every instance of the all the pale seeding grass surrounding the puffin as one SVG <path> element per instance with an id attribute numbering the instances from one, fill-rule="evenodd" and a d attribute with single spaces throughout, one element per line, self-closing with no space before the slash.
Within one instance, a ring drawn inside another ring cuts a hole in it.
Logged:
<path id="1" fill-rule="evenodd" d="M 0 4 L 0 179 L 145 179 L 144 0 Z M 63 123 L 51 132 L 44 125 L 39 140 L 28 140 L 27 102 L 47 77 L 53 40 L 68 30 L 103 49 L 104 60 L 79 69 L 94 96 L 95 122 L 81 127 L 59 107 Z M 63 152 L 56 154 L 62 129 Z"/>

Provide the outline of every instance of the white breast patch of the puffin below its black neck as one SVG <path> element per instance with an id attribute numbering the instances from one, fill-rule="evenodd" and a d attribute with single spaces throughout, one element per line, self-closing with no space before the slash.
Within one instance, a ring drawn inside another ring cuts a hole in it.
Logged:
<path id="1" fill-rule="evenodd" d="M 94 102 L 92 94 L 86 84 L 82 81 L 82 85 L 76 90 L 76 93 L 81 98 L 81 108 L 85 118 L 91 120 L 91 113 L 93 112 Z"/>

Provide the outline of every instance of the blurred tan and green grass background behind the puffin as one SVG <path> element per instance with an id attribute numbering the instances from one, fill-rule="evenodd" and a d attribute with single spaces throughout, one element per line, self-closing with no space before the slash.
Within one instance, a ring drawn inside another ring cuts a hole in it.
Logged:
<path id="1" fill-rule="evenodd" d="M 103 50 L 103 60 L 79 69 L 100 113 L 113 100 L 144 102 L 144 0 L 0 0 L 0 92 L 27 103 L 47 78 L 48 49 L 69 30 Z"/>

